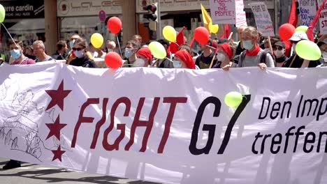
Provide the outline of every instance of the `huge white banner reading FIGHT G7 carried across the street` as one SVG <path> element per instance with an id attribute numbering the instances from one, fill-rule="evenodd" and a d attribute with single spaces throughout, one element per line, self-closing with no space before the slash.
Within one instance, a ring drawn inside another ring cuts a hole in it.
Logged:
<path id="1" fill-rule="evenodd" d="M 0 79 L 1 158 L 159 183 L 327 183 L 327 68 L 3 64 Z"/>

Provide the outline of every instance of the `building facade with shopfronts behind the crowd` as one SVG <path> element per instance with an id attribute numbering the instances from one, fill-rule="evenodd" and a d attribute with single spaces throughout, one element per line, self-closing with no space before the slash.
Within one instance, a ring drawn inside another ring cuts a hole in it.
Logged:
<path id="1" fill-rule="evenodd" d="M 152 30 L 147 27 L 148 20 L 143 18 L 146 13 L 143 10 L 145 4 L 151 4 L 158 0 L 11 0 L 1 1 L 6 8 L 4 24 L 14 37 L 24 40 L 29 45 L 34 40 L 44 40 L 48 53 L 55 51 L 55 43 L 58 40 L 68 40 L 71 34 L 78 33 L 89 40 L 93 33 L 101 33 L 105 40 L 117 40 L 124 44 L 131 39 L 133 34 L 143 36 L 145 42 L 158 39 L 158 29 Z M 247 24 L 255 26 L 252 10 L 248 4 L 259 0 L 244 1 L 247 13 Z M 289 13 L 291 0 L 260 0 L 268 6 L 270 17 L 275 24 L 275 32 L 279 27 L 278 22 L 283 20 L 282 12 Z M 279 2 L 280 1 L 280 2 Z M 159 0 L 161 13 L 161 30 L 163 26 L 170 25 L 179 31 L 185 26 L 184 35 L 191 39 L 193 31 L 202 24 L 201 3 L 210 11 L 208 0 Z M 288 6 L 286 6 L 288 4 Z M 279 6 L 281 8 L 279 8 Z M 14 7 L 14 11 L 11 11 Z M 18 8 L 17 8 L 18 7 Z M 20 8 L 19 8 L 20 7 Z M 286 11 L 285 8 L 288 8 Z M 17 10 L 17 11 L 16 11 Z M 18 11 L 21 11 L 18 13 Z M 25 11 L 26 10 L 26 11 Z M 109 17 L 117 16 L 122 20 L 122 31 L 116 37 L 110 33 L 106 21 L 101 22 L 99 12 L 106 12 Z M 284 21 L 282 21 L 284 22 Z M 223 26 L 220 26 L 221 28 Z M 235 33 L 235 26 L 231 25 L 231 31 Z M 219 30 L 223 31 L 223 29 Z M 219 33 L 217 34 L 219 36 Z M 234 39 L 237 34 L 233 35 Z M 215 38 L 215 35 L 212 35 Z M 1 29 L 1 43 L 6 45 L 9 38 Z"/>

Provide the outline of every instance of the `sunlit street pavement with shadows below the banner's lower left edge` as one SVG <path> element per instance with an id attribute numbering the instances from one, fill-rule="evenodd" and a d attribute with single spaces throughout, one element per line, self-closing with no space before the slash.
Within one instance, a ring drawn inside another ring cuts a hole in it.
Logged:
<path id="1" fill-rule="evenodd" d="M 153 182 L 136 181 L 126 178 L 116 178 L 99 174 L 88 174 L 70 169 L 45 167 L 38 164 L 23 163 L 22 167 L 3 170 L 8 159 L 0 158 L 0 184 L 86 184 L 86 183 L 126 183 L 126 184 L 156 184 Z"/>

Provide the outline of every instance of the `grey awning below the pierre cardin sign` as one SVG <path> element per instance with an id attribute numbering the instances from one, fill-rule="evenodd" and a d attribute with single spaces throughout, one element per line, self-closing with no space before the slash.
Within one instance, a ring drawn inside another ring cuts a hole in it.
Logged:
<path id="1" fill-rule="evenodd" d="M 45 22 L 44 19 L 20 20 L 20 22 L 11 26 L 8 31 L 13 34 L 45 33 Z"/>

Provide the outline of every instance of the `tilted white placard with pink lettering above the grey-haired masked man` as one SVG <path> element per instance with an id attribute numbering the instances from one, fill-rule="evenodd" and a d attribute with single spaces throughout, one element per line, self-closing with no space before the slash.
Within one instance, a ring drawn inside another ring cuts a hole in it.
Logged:
<path id="1" fill-rule="evenodd" d="M 256 28 L 261 31 L 262 36 L 275 36 L 273 22 L 270 19 L 265 3 L 250 3 L 249 6 L 256 20 Z"/>

